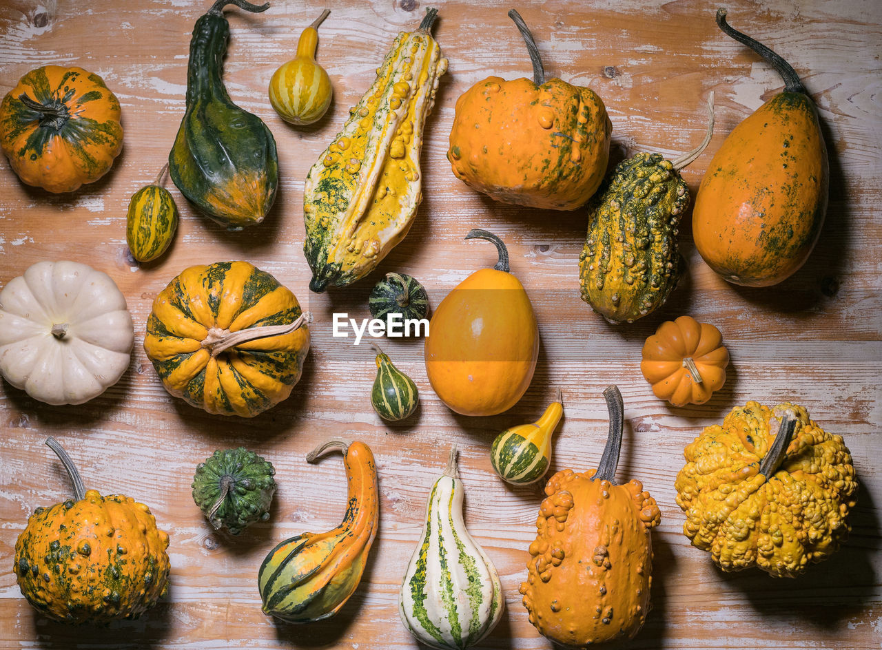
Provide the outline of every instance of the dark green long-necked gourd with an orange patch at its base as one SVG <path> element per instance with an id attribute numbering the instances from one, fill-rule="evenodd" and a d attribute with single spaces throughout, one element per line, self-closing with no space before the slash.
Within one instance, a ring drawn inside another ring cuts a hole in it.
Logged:
<path id="1" fill-rule="evenodd" d="M 279 160 L 273 134 L 255 114 L 237 107 L 223 85 L 229 23 L 223 7 L 265 11 L 245 0 L 217 0 L 196 21 L 187 71 L 187 110 L 168 154 L 168 172 L 181 194 L 229 230 L 259 224 L 273 207 Z"/>

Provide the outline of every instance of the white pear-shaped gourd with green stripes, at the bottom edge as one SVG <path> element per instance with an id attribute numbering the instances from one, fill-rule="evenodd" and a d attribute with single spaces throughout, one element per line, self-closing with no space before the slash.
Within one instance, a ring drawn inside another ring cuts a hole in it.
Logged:
<path id="1" fill-rule="evenodd" d="M 505 598 L 496 567 L 462 517 L 456 447 L 429 494 L 426 523 L 401 583 L 401 621 L 441 650 L 474 646 L 499 622 Z"/>

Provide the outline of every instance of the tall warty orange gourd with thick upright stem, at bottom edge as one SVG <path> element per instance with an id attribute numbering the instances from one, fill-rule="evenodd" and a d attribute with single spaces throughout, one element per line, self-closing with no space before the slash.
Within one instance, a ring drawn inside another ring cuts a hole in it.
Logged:
<path id="1" fill-rule="evenodd" d="M 596 470 L 564 469 L 545 486 L 520 585 L 530 623 L 561 646 L 632 639 L 649 611 L 653 549 L 661 521 L 655 499 L 632 480 L 614 484 L 622 445 L 618 388 L 603 392 L 609 438 Z"/>

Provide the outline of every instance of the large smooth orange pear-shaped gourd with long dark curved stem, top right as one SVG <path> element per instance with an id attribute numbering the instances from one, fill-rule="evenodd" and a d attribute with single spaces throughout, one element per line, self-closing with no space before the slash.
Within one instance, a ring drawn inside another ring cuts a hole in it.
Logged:
<path id="1" fill-rule="evenodd" d="M 828 161 L 818 112 L 779 55 L 726 23 L 721 29 L 756 50 L 785 81 L 738 124 L 714 155 L 692 211 L 692 236 L 705 262 L 735 284 L 778 284 L 811 254 L 824 223 Z"/>

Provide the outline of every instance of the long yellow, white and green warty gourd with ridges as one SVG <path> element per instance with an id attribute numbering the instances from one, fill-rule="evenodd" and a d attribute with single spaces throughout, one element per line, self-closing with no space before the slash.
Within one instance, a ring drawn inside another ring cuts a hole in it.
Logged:
<path id="1" fill-rule="evenodd" d="M 401 32 L 377 68 L 377 79 L 303 188 L 310 290 L 345 286 L 366 276 L 403 240 L 422 201 L 420 150 L 438 79 L 447 70 L 430 29 Z"/>

